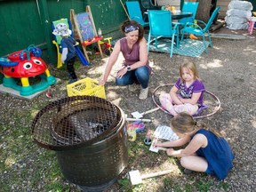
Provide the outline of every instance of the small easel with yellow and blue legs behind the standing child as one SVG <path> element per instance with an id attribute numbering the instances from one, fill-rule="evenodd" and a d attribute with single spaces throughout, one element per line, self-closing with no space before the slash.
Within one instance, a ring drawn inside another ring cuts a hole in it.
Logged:
<path id="1" fill-rule="evenodd" d="M 68 28 L 72 31 L 72 24 L 70 22 L 70 20 L 68 19 L 60 19 L 60 20 L 55 20 L 52 21 L 52 31 L 56 28 L 56 26 L 60 23 L 65 23 Z M 73 33 L 71 34 L 71 36 L 73 36 Z M 60 47 L 60 42 L 61 42 L 61 36 L 54 36 L 54 40 L 52 40 L 52 44 L 55 44 L 56 49 L 57 49 L 57 68 L 61 68 L 62 67 L 62 63 L 61 63 L 61 47 Z M 79 60 L 81 61 L 81 63 L 84 66 L 88 66 L 89 63 L 88 61 L 84 58 L 83 53 L 80 51 L 79 47 L 78 47 L 78 42 L 76 42 L 76 55 L 78 56 Z"/>

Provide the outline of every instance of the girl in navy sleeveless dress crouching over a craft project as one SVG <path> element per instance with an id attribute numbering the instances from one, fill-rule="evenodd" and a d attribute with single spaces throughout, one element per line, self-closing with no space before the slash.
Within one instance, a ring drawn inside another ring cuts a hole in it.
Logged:
<path id="1" fill-rule="evenodd" d="M 197 124 L 188 113 L 182 112 L 171 120 L 172 131 L 179 140 L 157 142 L 155 147 L 168 148 L 168 156 L 180 158 L 180 164 L 185 169 L 195 172 L 206 172 L 216 175 L 219 180 L 228 176 L 233 168 L 234 155 L 227 140 L 205 124 Z M 186 148 L 174 150 L 188 143 Z"/>

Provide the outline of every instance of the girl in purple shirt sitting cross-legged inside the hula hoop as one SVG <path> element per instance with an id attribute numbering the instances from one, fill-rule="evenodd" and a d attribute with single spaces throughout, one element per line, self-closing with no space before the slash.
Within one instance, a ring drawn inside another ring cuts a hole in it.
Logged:
<path id="1" fill-rule="evenodd" d="M 162 92 L 159 100 L 162 107 L 172 116 L 177 116 L 180 112 L 187 112 L 192 116 L 198 108 L 203 107 L 204 91 L 196 65 L 186 62 L 180 66 L 180 78 L 172 86 L 170 93 Z"/>

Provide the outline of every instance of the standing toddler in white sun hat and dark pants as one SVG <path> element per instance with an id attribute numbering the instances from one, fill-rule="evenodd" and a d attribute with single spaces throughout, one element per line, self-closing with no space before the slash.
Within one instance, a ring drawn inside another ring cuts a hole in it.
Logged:
<path id="1" fill-rule="evenodd" d="M 65 23 L 59 23 L 52 32 L 55 36 L 61 36 L 60 47 L 62 49 L 61 62 L 67 65 L 69 79 L 68 84 L 72 84 L 77 81 L 77 76 L 74 68 L 74 63 L 76 61 L 76 49 L 74 45 L 76 40 L 71 37 L 72 31 L 68 29 Z"/>

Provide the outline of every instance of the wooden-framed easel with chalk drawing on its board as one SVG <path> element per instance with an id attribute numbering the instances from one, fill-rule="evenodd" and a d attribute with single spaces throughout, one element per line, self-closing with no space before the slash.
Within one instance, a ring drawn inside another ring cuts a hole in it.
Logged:
<path id="1" fill-rule="evenodd" d="M 86 27 L 85 28 L 88 29 L 88 30 L 92 30 L 91 31 L 92 36 L 89 39 L 86 36 L 83 36 L 82 32 L 80 31 L 81 23 L 77 19 L 77 15 L 76 15 L 74 9 L 70 9 L 70 20 L 71 20 L 72 25 L 74 26 L 74 33 L 77 34 L 77 36 L 80 40 L 80 43 L 82 44 L 82 48 L 83 48 L 84 55 L 85 55 L 86 59 L 88 60 L 88 62 L 90 62 L 88 54 L 86 52 L 86 46 L 88 46 L 90 44 L 94 44 L 96 42 L 97 42 L 98 48 L 100 50 L 101 58 L 103 58 L 103 53 L 102 53 L 101 47 L 100 47 L 100 40 L 103 38 L 103 36 L 98 36 L 98 34 L 97 34 L 97 31 L 96 31 L 96 28 L 95 28 L 95 25 L 94 25 L 94 20 L 92 18 L 92 12 L 91 12 L 90 6 L 87 5 L 86 6 L 86 12 L 79 13 L 79 14 L 80 15 L 84 14 L 84 17 L 88 16 L 87 18 L 88 18 L 88 24 L 89 25 L 88 25 L 88 28 L 86 28 Z"/>

